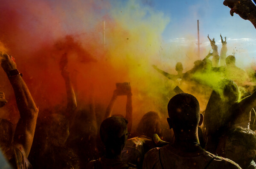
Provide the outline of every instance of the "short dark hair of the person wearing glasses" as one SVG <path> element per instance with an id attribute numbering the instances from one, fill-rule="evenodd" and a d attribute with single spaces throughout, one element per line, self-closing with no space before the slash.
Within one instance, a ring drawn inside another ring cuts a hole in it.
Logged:
<path id="1" fill-rule="evenodd" d="M 127 129 L 128 121 L 123 117 L 108 117 L 100 125 L 100 137 L 105 146 L 115 147 L 122 144 L 122 136 Z"/>

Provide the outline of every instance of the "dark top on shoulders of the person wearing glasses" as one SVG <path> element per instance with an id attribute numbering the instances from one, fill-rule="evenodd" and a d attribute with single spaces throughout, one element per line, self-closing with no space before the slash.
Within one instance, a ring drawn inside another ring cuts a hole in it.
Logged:
<path id="1" fill-rule="evenodd" d="M 129 166 L 127 163 L 123 162 L 120 158 L 110 159 L 110 158 L 102 157 L 87 163 L 87 166 L 85 169 L 135 169 L 135 168 Z"/>

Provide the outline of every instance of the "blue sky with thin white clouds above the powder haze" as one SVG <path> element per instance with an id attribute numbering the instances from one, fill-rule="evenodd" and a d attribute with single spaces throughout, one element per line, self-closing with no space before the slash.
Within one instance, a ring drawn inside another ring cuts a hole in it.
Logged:
<path id="1" fill-rule="evenodd" d="M 116 0 L 111 0 L 115 6 Z M 127 1 L 122 1 L 123 5 Z M 255 58 L 256 30 L 252 23 L 239 15 L 230 15 L 230 9 L 223 5 L 223 0 L 140 0 L 141 6 L 162 13 L 168 24 L 162 33 L 163 43 L 175 43 L 176 47 L 194 43 L 197 48 L 197 20 L 199 20 L 200 43 L 207 52 L 201 52 L 201 59 L 211 50 L 207 34 L 215 38 L 218 51 L 221 38 L 227 37 L 227 54 L 235 54 L 241 60 L 240 66 L 247 66 Z M 154 23 L 152 23 L 154 24 Z M 211 51 L 212 52 L 212 51 Z M 244 58 L 246 56 L 246 58 Z M 238 63 L 239 64 L 239 63 Z"/>

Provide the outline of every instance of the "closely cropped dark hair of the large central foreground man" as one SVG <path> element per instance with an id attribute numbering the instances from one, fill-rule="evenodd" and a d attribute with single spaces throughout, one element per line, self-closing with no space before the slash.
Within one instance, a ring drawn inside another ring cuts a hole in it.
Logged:
<path id="1" fill-rule="evenodd" d="M 197 128 L 200 121 L 198 100 L 188 93 L 177 94 L 168 103 L 168 114 L 179 129 Z"/>

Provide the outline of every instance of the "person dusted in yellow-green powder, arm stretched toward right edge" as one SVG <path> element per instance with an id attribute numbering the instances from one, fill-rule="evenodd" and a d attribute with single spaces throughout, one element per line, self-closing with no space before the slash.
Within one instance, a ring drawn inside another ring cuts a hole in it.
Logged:
<path id="1" fill-rule="evenodd" d="M 219 138 L 228 129 L 241 126 L 249 129 L 250 111 L 256 105 L 256 92 L 239 100 L 239 89 L 232 80 L 219 83 L 207 103 L 204 127 L 207 132 L 207 151 L 215 153 Z M 220 154 L 220 153 L 218 153 Z"/>

